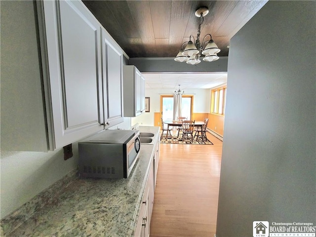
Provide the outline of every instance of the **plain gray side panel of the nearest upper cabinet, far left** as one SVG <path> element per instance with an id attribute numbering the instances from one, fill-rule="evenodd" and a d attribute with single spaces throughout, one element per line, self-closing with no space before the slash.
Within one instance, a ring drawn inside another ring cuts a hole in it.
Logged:
<path id="1" fill-rule="evenodd" d="M 33 1 L 0 2 L 1 150 L 47 151 Z"/>

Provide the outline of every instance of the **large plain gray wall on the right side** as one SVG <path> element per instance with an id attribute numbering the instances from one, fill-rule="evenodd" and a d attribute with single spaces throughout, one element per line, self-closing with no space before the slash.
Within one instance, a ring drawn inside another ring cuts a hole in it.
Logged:
<path id="1" fill-rule="evenodd" d="M 269 1 L 233 37 L 217 237 L 316 224 L 316 1 Z"/>

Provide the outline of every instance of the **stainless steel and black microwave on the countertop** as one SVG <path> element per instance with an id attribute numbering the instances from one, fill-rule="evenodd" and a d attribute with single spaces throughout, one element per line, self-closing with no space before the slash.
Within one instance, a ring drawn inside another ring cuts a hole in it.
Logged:
<path id="1" fill-rule="evenodd" d="M 81 177 L 127 178 L 139 155 L 139 131 L 105 130 L 78 146 Z"/>

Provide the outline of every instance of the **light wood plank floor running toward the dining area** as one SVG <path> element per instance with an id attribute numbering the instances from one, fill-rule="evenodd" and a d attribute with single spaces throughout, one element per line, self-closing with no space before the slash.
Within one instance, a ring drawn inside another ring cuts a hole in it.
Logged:
<path id="1" fill-rule="evenodd" d="M 222 141 L 160 144 L 150 237 L 214 237 Z"/>

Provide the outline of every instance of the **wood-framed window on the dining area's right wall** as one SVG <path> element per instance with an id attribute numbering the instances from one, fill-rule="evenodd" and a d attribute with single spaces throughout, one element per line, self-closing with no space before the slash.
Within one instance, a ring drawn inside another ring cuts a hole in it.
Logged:
<path id="1" fill-rule="evenodd" d="M 226 107 L 226 87 L 212 90 L 211 112 L 213 114 L 224 115 Z"/>

